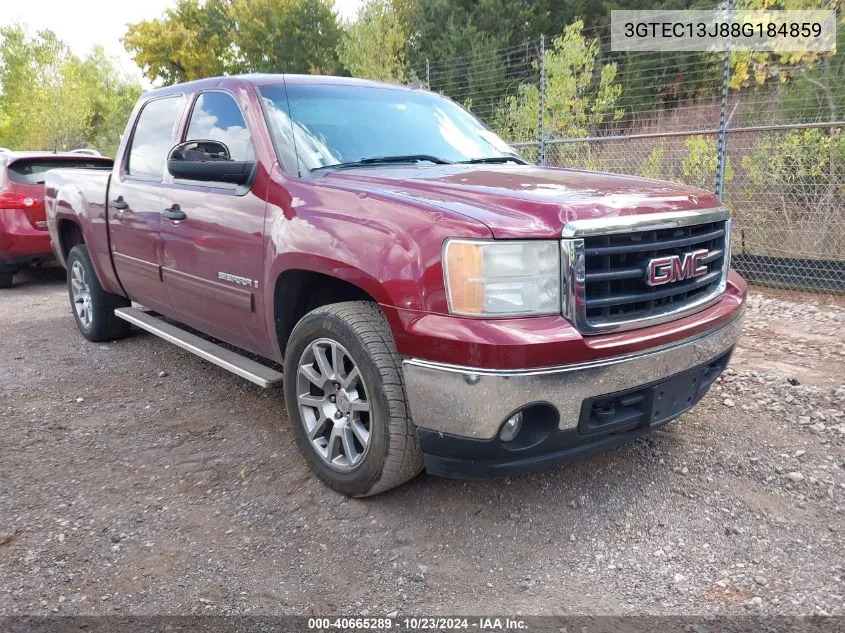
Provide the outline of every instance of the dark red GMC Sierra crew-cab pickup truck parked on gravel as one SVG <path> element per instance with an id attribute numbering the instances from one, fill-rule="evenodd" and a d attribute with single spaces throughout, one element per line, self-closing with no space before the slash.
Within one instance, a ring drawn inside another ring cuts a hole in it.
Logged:
<path id="1" fill-rule="evenodd" d="M 283 384 L 350 495 L 645 433 L 707 392 L 744 309 L 712 194 L 529 165 L 448 99 L 353 79 L 154 90 L 110 175 L 48 173 L 47 212 L 86 338 L 132 323 Z"/>

